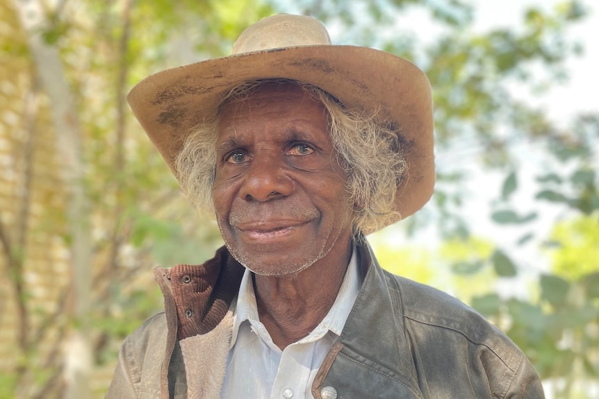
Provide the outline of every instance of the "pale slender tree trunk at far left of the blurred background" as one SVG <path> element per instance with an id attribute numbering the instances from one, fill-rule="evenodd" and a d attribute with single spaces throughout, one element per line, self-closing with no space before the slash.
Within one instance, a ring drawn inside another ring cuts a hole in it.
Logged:
<path id="1" fill-rule="evenodd" d="M 62 160 L 60 171 L 68 190 L 66 205 L 71 235 L 72 316 L 78 330 L 65 346 L 65 399 L 90 398 L 92 353 L 88 340 L 88 314 L 91 296 L 90 220 L 85 194 L 85 170 L 81 156 L 83 138 L 71 89 L 56 46 L 44 41 L 42 33 L 51 28 L 40 0 L 15 0 L 15 8 L 28 37 L 28 46 L 40 84 L 44 88 L 54 121 L 56 150 Z"/>

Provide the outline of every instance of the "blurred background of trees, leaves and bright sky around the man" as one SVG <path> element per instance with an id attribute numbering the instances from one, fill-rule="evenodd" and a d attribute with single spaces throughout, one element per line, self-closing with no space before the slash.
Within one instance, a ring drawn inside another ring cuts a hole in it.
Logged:
<path id="1" fill-rule="evenodd" d="M 599 398 L 591 0 L 0 0 L 0 398 L 102 398 L 162 307 L 151 268 L 220 246 L 124 96 L 275 12 L 431 80 L 436 193 L 370 236 L 381 264 L 488 316 L 549 398 Z"/>

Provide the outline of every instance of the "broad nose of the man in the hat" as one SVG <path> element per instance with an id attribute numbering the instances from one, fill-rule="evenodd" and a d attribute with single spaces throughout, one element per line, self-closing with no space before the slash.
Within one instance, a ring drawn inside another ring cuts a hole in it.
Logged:
<path id="1" fill-rule="evenodd" d="M 285 173 L 286 164 L 277 154 L 256 154 L 245 175 L 239 195 L 245 201 L 269 201 L 293 192 L 293 180 Z"/>

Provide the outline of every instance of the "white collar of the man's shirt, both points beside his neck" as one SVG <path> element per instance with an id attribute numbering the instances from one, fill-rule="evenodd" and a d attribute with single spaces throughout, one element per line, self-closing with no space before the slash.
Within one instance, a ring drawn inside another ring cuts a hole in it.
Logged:
<path id="1" fill-rule="evenodd" d="M 345 277 L 339 288 L 337 298 L 331 309 L 329 309 L 325 319 L 322 319 L 315 330 L 324 330 L 322 334 L 331 331 L 339 336 L 343 330 L 347 316 L 349 316 L 352 311 L 361 285 L 362 279 L 358 270 L 358 256 L 354 244 L 350 264 L 347 265 L 347 271 L 345 272 Z M 233 301 L 231 305 L 234 319 L 230 347 L 233 348 L 233 345 L 237 340 L 237 334 L 241 323 L 246 320 L 249 322 L 259 321 L 258 305 L 256 305 L 256 294 L 254 293 L 254 284 L 252 282 L 252 272 L 249 271 L 249 269 L 245 269 L 239 286 L 237 300 Z"/>

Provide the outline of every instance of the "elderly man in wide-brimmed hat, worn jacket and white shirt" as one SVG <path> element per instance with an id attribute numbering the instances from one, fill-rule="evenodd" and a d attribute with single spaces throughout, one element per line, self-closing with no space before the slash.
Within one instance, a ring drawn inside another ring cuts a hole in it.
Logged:
<path id="1" fill-rule="evenodd" d="M 226 245 L 156 269 L 165 312 L 123 343 L 108 398 L 543 397 L 504 334 L 366 243 L 432 194 L 420 69 L 275 15 L 129 102 Z"/>

